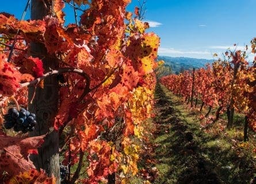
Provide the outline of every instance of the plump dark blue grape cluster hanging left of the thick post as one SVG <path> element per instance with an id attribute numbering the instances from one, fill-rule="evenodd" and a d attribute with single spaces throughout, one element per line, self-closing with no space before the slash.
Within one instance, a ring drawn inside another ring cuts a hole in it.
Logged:
<path id="1" fill-rule="evenodd" d="M 30 113 L 24 108 L 21 108 L 20 111 L 16 108 L 10 108 L 4 118 L 6 129 L 13 128 L 15 132 L 22 131 L 22 133 L 35 130 L 36 114 Z"/>

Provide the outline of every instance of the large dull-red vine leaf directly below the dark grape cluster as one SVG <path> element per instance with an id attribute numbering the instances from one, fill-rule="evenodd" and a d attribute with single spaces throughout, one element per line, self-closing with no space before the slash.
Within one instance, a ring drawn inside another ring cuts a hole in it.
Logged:
<path id="1" fill-rule="evenodd" d="M 0 135 L 0 174 L 6 171 L 9 175 L 17 175 L 35 168 L 28 156 L 37 152 L 37 147 L 44 136 L 24 139 Z"/>

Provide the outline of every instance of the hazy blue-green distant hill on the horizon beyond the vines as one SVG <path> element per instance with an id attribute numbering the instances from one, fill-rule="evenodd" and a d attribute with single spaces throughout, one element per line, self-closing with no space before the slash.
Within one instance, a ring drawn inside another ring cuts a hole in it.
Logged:
<path id="1" fill-rule="evenodd" d="M 173 74 L 182 70 L 205 67 L 205 64 L 212 63 L 213 59 L 197 59 L 190 57 L 158 56 L 158 60 L 164 60 L 165 65 L 171 67 Z"/>

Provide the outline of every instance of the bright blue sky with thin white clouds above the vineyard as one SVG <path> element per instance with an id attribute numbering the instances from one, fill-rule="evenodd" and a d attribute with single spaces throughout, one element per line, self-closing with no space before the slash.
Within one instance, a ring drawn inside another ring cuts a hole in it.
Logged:
<path id="1" fill-rule="evenodd" d="M 3 1 L 0 11 L 20 18 L 25 4 L 26 0 Z M 138 0 L 132 0 L 127 10 L 136 5 Z M 255 7 L 256 0 L 147 0 L 144 20 L 150 22 L 148 31 L 161 37 L 159 55 L 212 59 L 213 53 L 221 56 L 227 48 L 235 49 L 233 44 L 250 48 L 256 37 Z"/>

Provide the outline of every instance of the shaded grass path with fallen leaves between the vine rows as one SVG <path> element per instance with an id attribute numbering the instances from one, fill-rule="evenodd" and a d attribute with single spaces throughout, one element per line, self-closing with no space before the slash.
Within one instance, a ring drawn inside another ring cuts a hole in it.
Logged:
<path id="1" fill-rule="evenodd" d="M 156 86 L 154 183 L 250 183 L 255 160 L 230 139 L 205 133 L 196 114 L 165 87 Z"/>

